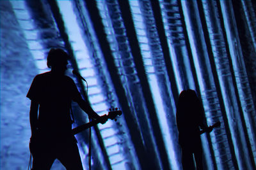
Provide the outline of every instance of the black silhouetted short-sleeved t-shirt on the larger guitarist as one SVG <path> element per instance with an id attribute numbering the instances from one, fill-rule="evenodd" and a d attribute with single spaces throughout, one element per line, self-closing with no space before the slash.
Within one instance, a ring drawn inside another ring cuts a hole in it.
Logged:
<path id="1" fill-rule="evenodd" d="M 39 103 L 38 129 L 50 136 L 70 134 L 71 101 L 79 101 L 81 95 L 76 84 L 68 76 L 54 75 L 51 71 L 35 76 L 27 97 Z"/>

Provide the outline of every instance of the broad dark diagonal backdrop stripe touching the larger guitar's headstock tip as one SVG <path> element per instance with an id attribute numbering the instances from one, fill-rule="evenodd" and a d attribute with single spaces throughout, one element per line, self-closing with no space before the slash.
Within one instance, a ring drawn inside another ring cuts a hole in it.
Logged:
<path id="1" fill-rule="evenodd" d="M 120 77 L 118 75 L 118 70 L 116 69 L 115 62 L 113 60 L 113 55 L 111 53 L 111 48 L 109 46 L 108 40 L 106 39 L 106 33 L 104 31 L 104 25 L 102 24 L 102 19 L 100 18 L 99 10 L 95 1 L 85 1 L 86 9 L 90 14 L 94 31 L 99 40 L 99 45 L 104 54 L 104 59 L 106 61 L 111 80 L 113 81 L 114 88 L 116 90 L 116 96 L 122 106 L 125 120 L 129 128 L 129 133 L 131 134 L 131 140 L 134 144 L 134 148 L 138 155 L 138 160 L 140 162 L 141 169 L 150 169 L 150 167 L 156 167 L 153 163 L 154 160 L 150 159 L 151 155 L 148 155 L 147 148 L 143 145 L 141 141 L 142 137 L 140 136 L 140 128 L 138 127 L 136 120 L 133 118 L 131 109 L 129 107 L 129 102 L 125 97 L 125 89 L 122 85 Z"/>

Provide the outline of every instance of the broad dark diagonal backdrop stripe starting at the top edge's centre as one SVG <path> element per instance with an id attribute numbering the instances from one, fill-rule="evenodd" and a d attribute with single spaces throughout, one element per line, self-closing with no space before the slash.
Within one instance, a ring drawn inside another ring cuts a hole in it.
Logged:
<path id="1" fill-rule="evenodd" d="M 124 20 L 125 30 L 127 38 L 129 40 L 129 45 L 131 47 L 131 53 L 134 57 L 134 63 L 136 70 L 138 71 L 138 77 L 140 78 L 141 89 L 143 90 L 143 97 L 146 101 L 148 108 L 148 115 L 150 117 L 150 123 L 153 127 L 153 138 L 156 139 L 157 149 L 163 169 L 170 169 L 170 164 L 168 162 L 168 155 L 166 153 L 166 148 L 164 147 L 163 136 L 161 135 L 161 128 L 159 122 L 157 122 L 156 108 L 154 106 L 154 101 L 152 99 L 152 93 L 148 85 L 147 74 L 145 73 L 145 67 L 143 66 L 143 59 L 141 55 L 140 45 L 136 36 L 136 31 L 134 29 L 134 22 L 132 21 L 131 9 L 129 8 L 129 2 L 125 0 L 118 0 L 120 5 L 120 10 L 122 18 Z M 154 159 L 154 158 L 152 158 Z M 161 166 L 160 166 L 161 167 Z M 151 167 L 153 168 L 153 167 Z"/>

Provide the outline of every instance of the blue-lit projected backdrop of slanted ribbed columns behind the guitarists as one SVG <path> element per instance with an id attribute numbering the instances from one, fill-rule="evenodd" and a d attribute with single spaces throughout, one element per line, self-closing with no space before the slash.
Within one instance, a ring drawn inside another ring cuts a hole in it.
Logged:
<path id="1" fill-rule="evenodd" d="M 182 169 L 175 111 L 184 89 L 196 90 L 208 125 L 221 122 L 201 137 L 205 169 L 255 169 L 255 11 L 250 0 L 0 1 L 1 169 L 28 168 L 26 94 L 56 47 L 97 113 L 123 112 L 93 128 L 93 169 Z M 72 107 L 74 127 L 88 122 Z M 76 138 L 88 169 L 88 131 Z"/>

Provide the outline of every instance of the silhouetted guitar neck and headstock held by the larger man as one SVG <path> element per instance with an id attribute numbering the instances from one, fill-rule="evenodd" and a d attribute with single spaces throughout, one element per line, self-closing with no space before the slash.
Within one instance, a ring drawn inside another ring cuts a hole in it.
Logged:
<path id="1" fill-rule="evenodd" d="M 116 121 L 117 115 L 118 116 L 122 115 L 122 111 L 117 110 L 117 108 L 115 108 L 113 110 L 109 109 L 108 115 L 103 115 L 103 116 L 101 116 L 101 118 L 93 120 L 92 122 L 75 127 L 74 129 L 72 129 L 72 134 L 77 134 L 81 131 L 84 131 L 85 129 L 92 127 L 93 125 L 97 125 L 100 123 L 100 120 L 102 120 L 102 119 L 108 120 L 110 118 L 111 120 L 115 119 L 115 121 Z"/>

